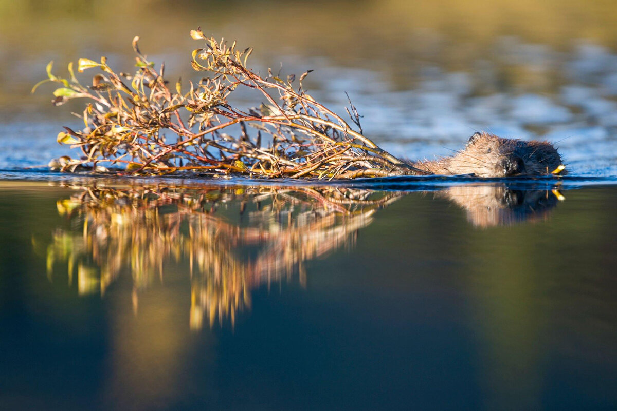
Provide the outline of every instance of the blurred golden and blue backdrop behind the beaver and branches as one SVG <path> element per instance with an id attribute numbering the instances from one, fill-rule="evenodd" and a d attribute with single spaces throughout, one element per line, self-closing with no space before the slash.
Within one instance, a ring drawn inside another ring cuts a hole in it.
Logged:
<path id="1" fill-rule="evenodd" d="M 52 107 L 51 85 L 30 94 L 50 60 L 64 75 L 101 55 L 132 71 L 139 35 L 169 79 L 197 78 L 197 26 L 255 47 L 259 70 L 314 69 L 315 97 L 344 113 L 349 92 L 366 134 L 408 158 L 448 154 L 483 129 L 559 142 L 578 175 L 617 175 L 617 3 L 603 0 L 0 0 L 0 138 L 30 150 L 0 167 L 66 150 L 53 137 L 78 103 Z"/>

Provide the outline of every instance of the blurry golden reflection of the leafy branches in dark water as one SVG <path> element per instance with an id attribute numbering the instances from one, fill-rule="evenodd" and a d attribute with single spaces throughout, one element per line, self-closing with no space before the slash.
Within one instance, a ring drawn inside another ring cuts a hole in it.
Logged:
<path id="1" fill-rule="evenodd" d="M 345 188 L 100 188 L 58 202 L 81 234 L 58 230 L 48 249 L 77 265 L 80 293 L 101 292 L 130 266 L 135 287 L 146 288 L 164 274 L 168 260 L 188 261 L 191 271 L 191 326 L 204 316 L 212 325 L 250 306 L 250 290 L 299 276 L 304 261 L 322 257 L 372 221 L 379 207 L 399 197 Z M 234 225 L 217 210 L 239 204 L 247 226 Z M 249 249 L 257 249 L 246 257 Z"/>

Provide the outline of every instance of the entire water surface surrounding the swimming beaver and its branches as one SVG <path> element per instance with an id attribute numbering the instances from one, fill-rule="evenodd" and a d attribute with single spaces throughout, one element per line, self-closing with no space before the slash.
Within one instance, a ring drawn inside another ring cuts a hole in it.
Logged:
<path id="1" fill-rule="evenodd" d="M 614 4 L 61 3 L 0 0 L 0 409 L 617 408 Z M 344 113 L 349 93 L 397 156 L 489 130 L 555 143 L 569 174 L 45 167 L 83 110 L 29 93 L 49 60 L 131 71 L 139 34 L 196 80 L 198 25 L 258 70 L 314 69 L 313 97 Z"/>

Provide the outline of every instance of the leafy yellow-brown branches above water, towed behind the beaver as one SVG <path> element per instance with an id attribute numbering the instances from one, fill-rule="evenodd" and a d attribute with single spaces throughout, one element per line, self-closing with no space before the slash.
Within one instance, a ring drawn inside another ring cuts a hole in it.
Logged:
<path id="1" fill-rule="evenodd" d="M 78 71 L 100 68 L 92 86 L 83 86 L 68 66 L 70 78 L 51 73 L 61 84 L 54 105 L 88 98 L 85 128 L 64 127 L 58 142 L 79 147 L 80 159 L 64 156 L 50 166 L 62 171 L 114 170 L 122 174 L 173 172 L 241 173 L 254 177 L 355 178 L 361 176 L 422 175 L 422 170 L 381 150 L 362 134 L 355 106 L 346 108 L 350 125 L 315 101 L 302 87 L 310 71 L 281 79 L 249 69 L 252 49 L 239 51 L 192 30 L 205 47 L 193 50 L 194 70 L 209 73 L 188 89 L 181 81 L 170 88 L 165 67 L 158 70 L 141 54 L 133 39 L 137 71 L 115 73 L 105 57 L 101 62 L 81 58 Z M 41 84 L 42 82 L 39 82 Z M 36 87 L 39 86 L 37 84 Z M 241 110 L 230 103 L 234 90 L 245 87 L 265 98 L 259 108 Z M 251 127 L 247 127 L 251 126 Z M 250 130 L 250 132 L 249 132 Z"/>

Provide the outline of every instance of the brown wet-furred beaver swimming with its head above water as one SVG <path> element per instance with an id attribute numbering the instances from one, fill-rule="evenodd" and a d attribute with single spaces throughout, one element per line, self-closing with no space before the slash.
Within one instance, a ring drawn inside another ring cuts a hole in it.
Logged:
<path id="1" fill-rule="evenodd" d="M 526 142 L 476 132 L 463 150 L 433 161 L 409 162 L 431 174 L 473 174 L 477 177 L 547 175 L 561 166 L 561 156 L 549 142 Z M 565 175 L 563 170 L 559 173 Z"/>

